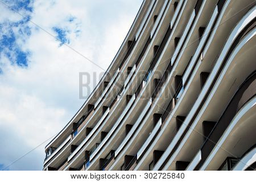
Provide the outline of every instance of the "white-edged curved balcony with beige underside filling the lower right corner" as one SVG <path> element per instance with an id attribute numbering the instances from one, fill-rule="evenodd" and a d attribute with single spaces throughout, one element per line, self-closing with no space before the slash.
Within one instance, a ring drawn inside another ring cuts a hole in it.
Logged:
<path id="1" fill-rule="evenodd" d="M 224 166 L 221 165 L 221 163 L 226 158 L 230 158 L 230 155 L 232 155 L 233 159 L 239 159 L 240 156 L 245 152 L 245 150 L 253 145 L 253 143 L 255 142 L 255 103 L 256 98 L 254 96 L 254 98 L 248 101 L 244 105 L 244 107 L 242 107 L 242 109 L 237 113 L 237 115 L 230 123 L 228 129 L 223 134 L 223 137 L 220 139 L 220 141 L 216 143 L 216 145 L 218 146 L 214 147 L 214 149 L 212 150 L 212 154 L 208 156 L 207 160 L 205 160 L 200 170 L 232 170 L 232 166 L 225 169 Z M 241 128 L 242 131 L 237 128 Z M 233 136 L 233 134 L 237 134 L 237 136 Z M 241 142 L 239 141 L 240 137 L 243 137 L 241 138 Z M 237 146 L 236 143 L 238 143 Z M 232 149 L 232 147 L 235 147 L 235 149 Z M 216 158 L 218 158 L 219 160 L 216 160 Z M 255 162 L 255 159 L 252 159 L 249 162 L 249 166 L 246 166 L 246 163 L 243 163 L 243 168 L 246 169 L 247 167 L 250 167 L 250 163 L 253 164 L 253 161 Z M 239 162 L 236 161 L 235 163 Z"/>

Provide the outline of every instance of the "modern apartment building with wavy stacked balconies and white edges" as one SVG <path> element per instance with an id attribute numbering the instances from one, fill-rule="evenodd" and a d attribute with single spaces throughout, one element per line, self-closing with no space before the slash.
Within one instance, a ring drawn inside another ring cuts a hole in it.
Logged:
<path id="1" fill-rule="evenodd" d="M 256 3 L 143 1 L 43 170 L 255 170 Z"/>

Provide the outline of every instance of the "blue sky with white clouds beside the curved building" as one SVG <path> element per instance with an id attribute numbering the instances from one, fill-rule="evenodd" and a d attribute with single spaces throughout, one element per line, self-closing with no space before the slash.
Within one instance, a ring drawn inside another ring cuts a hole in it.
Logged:
<path id="1" fill-rule="evenodd" d="M 0 0 L 0 170 L 42 170 L 44 147 L 100 81 L 141 3 Z"/>

